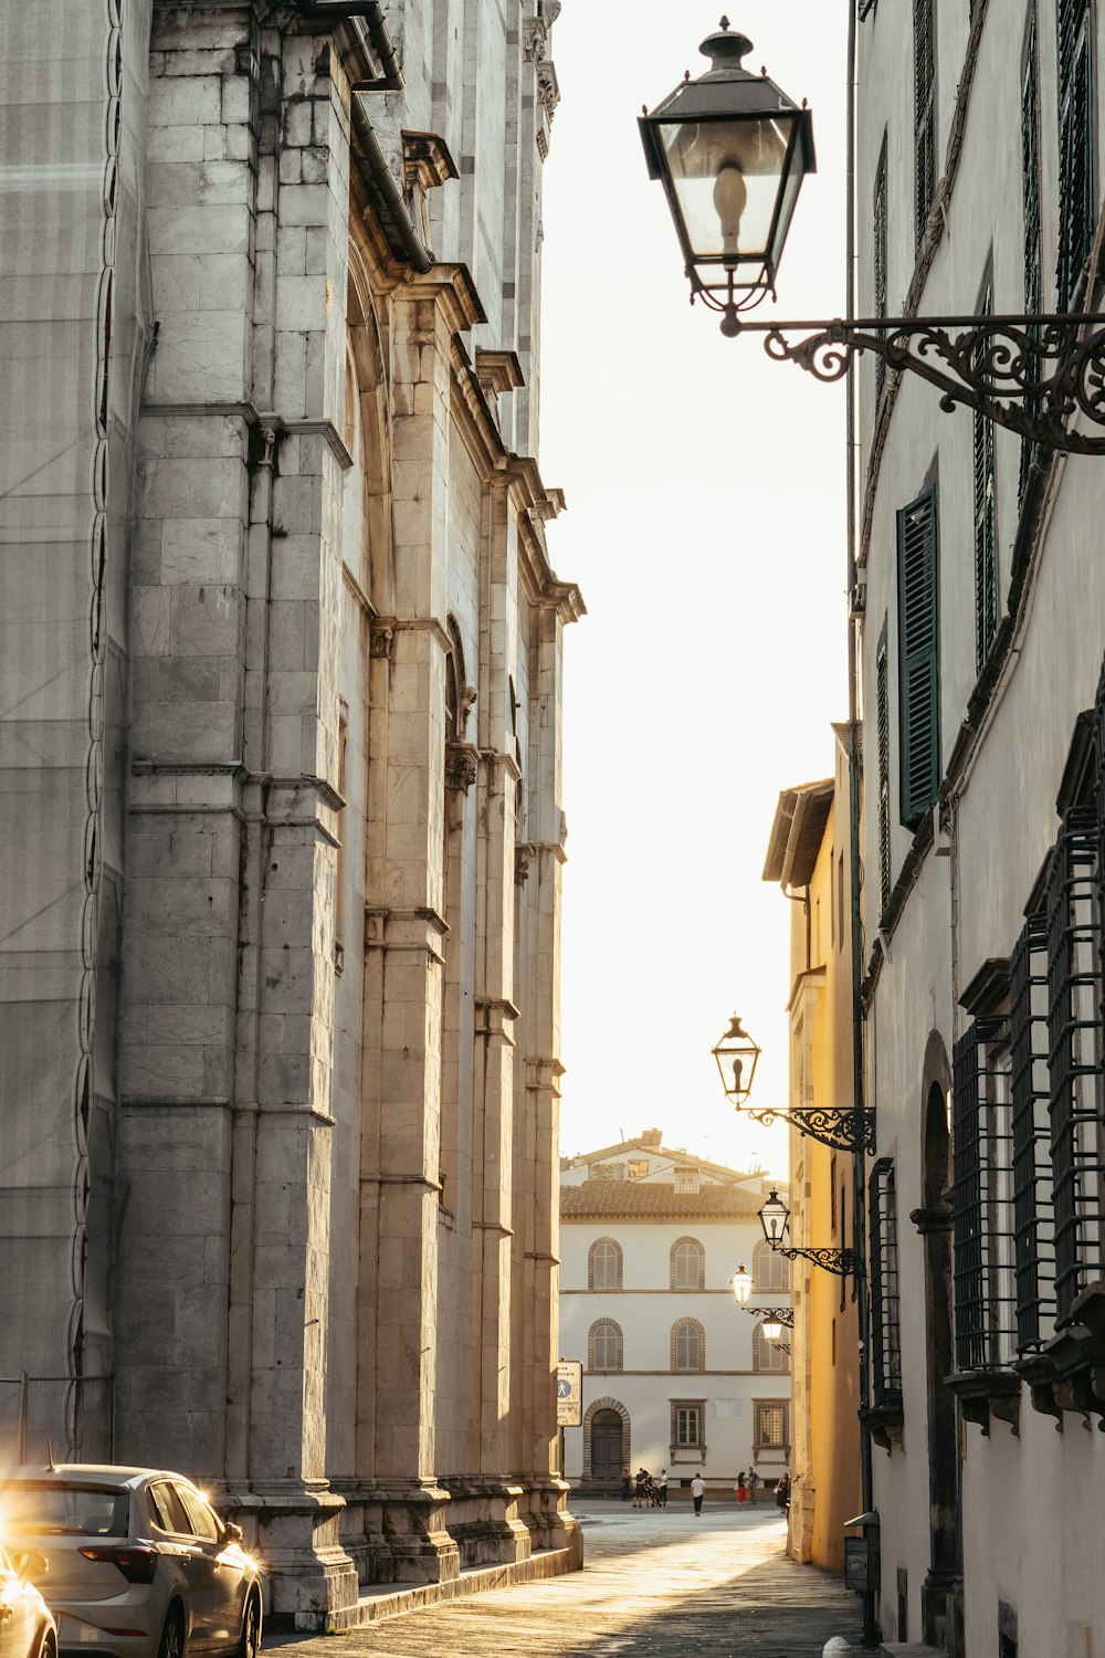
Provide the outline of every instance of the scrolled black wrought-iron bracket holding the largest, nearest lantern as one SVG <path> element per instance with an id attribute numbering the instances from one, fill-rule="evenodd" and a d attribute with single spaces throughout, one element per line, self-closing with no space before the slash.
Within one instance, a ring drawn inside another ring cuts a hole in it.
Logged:
<path id="1" fill-rule="evenodd" d="M 921 375 L 941 393 L 997 426 L 1069 454 L 1105 454 L 1105 433 L 1072 431 L 1074 414 L 1105 426 L 1105 315 L 863 317 L 845 322 L 746 322 L 726 317 L 724 333 L 765 335 L 775 361 L 797 363 L 817 380 L 840 380 L 856 351 L 886 368 Z M 790 340 L 789 335 L 803 338 Z"/>

